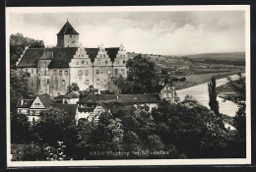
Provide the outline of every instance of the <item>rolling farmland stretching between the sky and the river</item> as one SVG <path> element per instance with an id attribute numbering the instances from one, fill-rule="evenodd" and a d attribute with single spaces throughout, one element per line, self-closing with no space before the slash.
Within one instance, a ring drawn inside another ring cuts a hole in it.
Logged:
<path id="1" fill-rule="evenodd" d="M 129 54 L 129 56 L 136 55 L 138 54 Z M 244 52 L 206 53 L 188 56 L 142 55 L 156 63 L 161 84 L 166 77 L 170 79 L 185 77 L 184 82 L 174 82 L 176 89 L 207 83 L 212 77 L 221 79 L 245 71 Z"/>

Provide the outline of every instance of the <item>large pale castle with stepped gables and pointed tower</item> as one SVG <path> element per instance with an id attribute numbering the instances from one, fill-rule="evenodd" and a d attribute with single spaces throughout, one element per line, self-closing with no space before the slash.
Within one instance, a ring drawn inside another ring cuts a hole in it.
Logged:
<path id="1" fill-rule="evenodd" d="M 79 44 L 79 33 L 67 21 L 57 33 L 56 47 L 26 47 L 16 67 L 31 74 L 32 93 L 54 97 L 65 94 L 72 83 L 82 90 L 94 86 L 99 91 L 116 91 L 112 81 L 119 76 L 127 77 L 127 59 L 122 44 L 109 48 L 83 47 Z"/>

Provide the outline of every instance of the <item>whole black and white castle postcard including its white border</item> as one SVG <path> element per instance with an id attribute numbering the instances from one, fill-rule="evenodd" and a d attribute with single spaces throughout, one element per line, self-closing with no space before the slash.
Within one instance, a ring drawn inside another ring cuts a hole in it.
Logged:
<path id="1" fill-rule="evenodd" d="M 7 165 L 251 163 L 250 8 L 7 7 Z"/>

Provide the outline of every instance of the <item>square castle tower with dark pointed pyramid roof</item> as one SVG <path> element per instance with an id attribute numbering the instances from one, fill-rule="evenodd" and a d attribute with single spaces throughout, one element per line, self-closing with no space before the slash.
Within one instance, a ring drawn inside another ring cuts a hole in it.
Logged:
<path id="1" fill-rule="evenodd" d="M 67 23 L 57 33 L 58 47 L 79 47 L 79 33 Z"/>

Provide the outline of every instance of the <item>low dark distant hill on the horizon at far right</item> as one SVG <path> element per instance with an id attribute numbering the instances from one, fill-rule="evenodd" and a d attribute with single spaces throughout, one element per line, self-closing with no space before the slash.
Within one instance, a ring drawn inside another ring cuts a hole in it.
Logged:
<path id="1" fill-rule="evenodd" d="M 204 53 L 188 55 L 187 57 L 194 62 L 232 64 L 237 66 L 245 65 L 245 52 Z"/>

